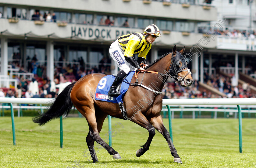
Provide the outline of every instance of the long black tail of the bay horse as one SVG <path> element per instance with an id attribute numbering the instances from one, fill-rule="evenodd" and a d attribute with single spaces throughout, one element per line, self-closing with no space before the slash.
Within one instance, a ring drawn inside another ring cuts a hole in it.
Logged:
<path id="1" fill-rule="evenodd" d="M 37 117 L 32 118 L 34 123 L 44 125 L 52 119 L 59 118 L 60 116 L 68 116 L 70 110 L 73 107 L 73 103 L 70 98 L 70 92 L 76 82 L 69 84 L 65 89 L 55 98 L 54 103 L 48 108 L 48 110 Z"/>

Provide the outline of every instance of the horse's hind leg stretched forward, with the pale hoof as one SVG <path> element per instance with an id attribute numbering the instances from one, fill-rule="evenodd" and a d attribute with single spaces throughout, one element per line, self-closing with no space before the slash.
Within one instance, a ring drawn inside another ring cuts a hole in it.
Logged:
<path id="1" fill-rule="evenodd" d="M 99 131 L 98 131 L 98 126 L 97 126 L 97 120 L 96 120 L 96 116 L 95 116 L 94 106 L 93 105 L 85 105 L 85 106 L 79 106 L 79 107 L 76 106 L 76 109 L 78 111 L 80 111 L 82 115 L 84 115 L 84 117 L 86 118 L 86 120 L 88 122 L 89 127 L 91 127 L 91 130 L 90 130 L 91 133 L 89 132 L 89 136 L 91 137 L 91 139 L 94 139 L 94 141 L 96 141 L 104 149 L 106 149 L 110 155 L 113 155 L 113 158 L 121 159 L 119 153 L 116 152 L 112 147 L 110 147 L 105 141 L 103 141 L 101 139 Z M 102 125 L 101 125 L 101 127 L 102 127 Z"/>

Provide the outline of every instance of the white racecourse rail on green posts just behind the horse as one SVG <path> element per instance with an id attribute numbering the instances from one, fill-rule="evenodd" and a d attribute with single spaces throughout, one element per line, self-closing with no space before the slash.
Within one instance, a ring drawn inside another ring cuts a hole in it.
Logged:
<path id="1" fill-rule="evenodd" d="M 13 145 L 16 145 L 14 114 L 12 103 L 20 104 L 51 104 L 54 99 L 45 98 L 0 98 L 0 103 L 9 103 L 11 107 Z M 169 132 L 172 139 L 172 120 L 169 105 L 237 105 L 239 124 L 239 151 L 242 153 L 242 112 L 240 105 L 256 105 L 256 98 L 213 98 L 213 99 L 163 99 L 167 106 L 169 116 Z M 111 116 L 108 116 L 108 128 L 111 129 Z M 112 137 L 109 136 L 111 146 Z M 60 147 L 63 147 L 62 116 L 60 117 Z"/>

